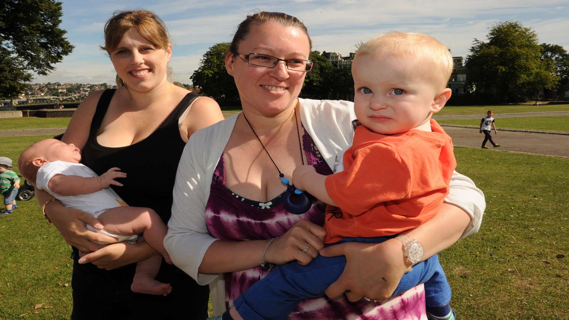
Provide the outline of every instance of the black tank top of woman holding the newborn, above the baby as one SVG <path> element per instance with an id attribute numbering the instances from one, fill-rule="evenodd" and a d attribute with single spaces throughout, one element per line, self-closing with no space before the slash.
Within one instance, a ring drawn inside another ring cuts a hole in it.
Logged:
<path id="1" fill-rule="evenodd" d="M 98 175 L 119 167 L 127 178 L 117 179 L 124 186 L 112 186 L 113 190 L 129 206 L 152 208 L 167 223 L 171 215 L 176 169 L 185 146 L 178 120 L 198 96 L 188 93 L 145 140 L 125 147 L 105 147 L 97 143 L 97 135 L 115 91 L 107 89 L 99 99 L 89 138 L 81 152 L 82 163 Z"/>

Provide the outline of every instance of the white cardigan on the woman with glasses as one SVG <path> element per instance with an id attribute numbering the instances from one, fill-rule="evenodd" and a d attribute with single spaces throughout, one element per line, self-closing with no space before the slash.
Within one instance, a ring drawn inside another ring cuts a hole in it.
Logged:
<path id="1" fill-rule="evenodd" d="M 353 102 L 337 100 L 307 100 L 300 102 L 300 119 L 320 154 L 333 168 L 336 155 L 351 144 L 353 138 Z M 209 235 L 205 224 L 205 204 L 213 171 L 233 132 L 237 116 L 208 126 L 192 134 L 182 153 L 174 184 L 172 216 L 164 247 L 176 266 L 205 285 L 217 276 L 200 274 L 200 266 L 209 245 L 217 239 Z M 465 237 L 480 228 L 486 207 L 484 194 L 471 179 L 455 171 L 450 182 L 450 193 L 445 202 L 462 208 L 472 222 L 464 231 Z M 219 286 L 218 286 L 219 288 Z M 212 294 L 212 299 L 214 295 Z M 222 293 L 217 293 L 221 300 Z M 219 301 L 221 302 L 221 301 Z"/>

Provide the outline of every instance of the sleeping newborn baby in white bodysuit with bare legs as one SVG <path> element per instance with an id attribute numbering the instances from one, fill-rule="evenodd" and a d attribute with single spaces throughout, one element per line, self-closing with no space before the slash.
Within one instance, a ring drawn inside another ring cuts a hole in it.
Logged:
<path id="1" fill-rule="evenodd" d="M 110 188 L 122 186 L 116 178 L 126 178 L 119 168 L 111 168 L 98 176 L 89 167 L 79 163 L 81 153 L 73 143 L 46 139 L 29 146 L 20 154 L 18 169 L 22 177 L 36 188 L 46 190 L 65 207 L 83 210 L 105 226 L 93 232 L 116 237 L 118 241 L 136 241 L 138 234 L 172 264 L 163 241 L 168 228 L 158 214 L 150 208 L 129 207 Z M 172 291 L 170 284 L 154 280 L 162 257 L 155 255 L 138 262 L 131 290 L 138 293 L 162 294 Z"/>

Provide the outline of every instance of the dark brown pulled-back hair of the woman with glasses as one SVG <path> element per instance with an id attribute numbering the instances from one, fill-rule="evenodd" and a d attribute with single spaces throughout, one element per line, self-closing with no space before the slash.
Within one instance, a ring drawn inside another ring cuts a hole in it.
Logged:
<path id="1" fill-rule="evenodd" d="M 245 18 L 245 20 L 239 24 L 237 31 L 235 31 L 235 35 L 233 36 L 233 40 L 229 46 L 229 52 L 237 55 L 239 53 L 237 47 L 243 40 L 245 40 L 245 38 L 247 38 L 249 32 L 251 32 L 251 27 L 256 24 L 262 24 L 265 22 L 278 22 L 281 23 L 283 27 L 299 28 L 308 37 L 308 44 L 310 44 L 310 49 L 312 50 L 312 40 L 310 39 L 310 35 L 308 35 L 308 30 L 306 26 L 304 26 L 304 23 L 302 23 L 299 19 L 292 17 L 292 15 L 288 15 L 286 13 L 262 11 L 253 15 L 248 15 L 247 18 Z"/>

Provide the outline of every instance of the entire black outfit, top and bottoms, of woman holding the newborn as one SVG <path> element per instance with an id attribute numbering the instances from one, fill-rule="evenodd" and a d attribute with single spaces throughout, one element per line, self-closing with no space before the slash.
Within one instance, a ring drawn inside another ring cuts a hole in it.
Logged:
<path id="1" fill-rule="evenodd" d="M 83 164 L 97 174 L 119 167 L 127 178 L 117 179 L 122 187 L 112 186 L 129 206 L 154 209 L 164 223 L 170 219 L 172 189 L 178 162 L 185 142 L 180 137 L 178 120 L 196 99 L 189 93 L 166 120 L 149 137 L 134 145 L 105 147 L 97 143 L 97 133 L 116 89 L 106 90 L 97 104 L 91 122 L 89 138 L 82 150 Z M 129 319 L 205 319 L 209 288 L 199 286 L 191 277 L 174 265 L 162 260 L 156 280 L 172 285 L 168 296 L 133 293 L 136 264 L 113 270 L 98 269 L 93 264 L 79 264 L 77 248 L 73 247 L 73 313 L 81 320 L 101 318 Z M 100 306 L 92 312 L 93 303 Z"/>

